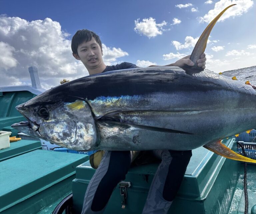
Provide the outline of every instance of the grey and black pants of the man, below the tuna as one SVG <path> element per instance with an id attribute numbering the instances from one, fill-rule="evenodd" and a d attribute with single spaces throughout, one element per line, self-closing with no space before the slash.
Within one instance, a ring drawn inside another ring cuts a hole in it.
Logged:
<path id="1" fill-rule="evenodd" d="M 179 189 L 191 151 L 152 151 L 161 159 L 151 183 L 143 214 L 167 213 Z M 107 202 L 132 160 L 129 151 L 107 151 L 93 175 L 84 197 L 82 214 L 104 213 Z"/>

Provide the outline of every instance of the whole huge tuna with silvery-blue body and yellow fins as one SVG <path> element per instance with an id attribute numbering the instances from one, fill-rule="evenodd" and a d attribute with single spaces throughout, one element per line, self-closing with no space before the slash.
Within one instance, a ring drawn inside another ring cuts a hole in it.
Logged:
<path id="1" fill-rule="evenodd" d="M 220 15 L 200 37 L 193 61 L 204 52 Z M 74 150 L 205 146 L 224 157 L 250 160 L 219 140 L 256 127 L 256 91 L 209 70 L 184 69 L 135 68 L 76 79 L 17 106 L 28 121 L 12 126 Z"/>

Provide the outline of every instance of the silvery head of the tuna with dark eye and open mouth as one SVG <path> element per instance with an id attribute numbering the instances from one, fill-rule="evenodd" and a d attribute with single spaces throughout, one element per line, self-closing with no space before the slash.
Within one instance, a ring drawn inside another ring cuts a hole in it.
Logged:
<path id="1" fill-rule="evenodd" d="M 65 148 L 94 149 L 97 134 L 90 106 L 85 100 L 66 102 L 63 96 L 56 99 L 52 92 L 51 89 L 18 105 L 16 109 L 28 121 L 12 127 Z"/>

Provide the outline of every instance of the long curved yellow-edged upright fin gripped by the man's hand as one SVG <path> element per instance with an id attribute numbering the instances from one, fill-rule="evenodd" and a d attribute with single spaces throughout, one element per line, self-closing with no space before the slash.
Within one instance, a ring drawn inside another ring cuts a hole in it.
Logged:
<path id="1" fill-rule="evenodd" d="M 205 28 L 204 32 L 202 33 L 202 35 L 200 36 L 200 38 L 198 39 L 195 48 L 193 49 L 191 55 L 190 55 L 190 60 L 194 62 L 193 66 L 189 66 L 186 65 L 184 66 L 184 70 L 186 71 L 187 74 L 192 75 L 193 73 L 198 73 L 200 71 L 202 71 L 202 67 L 198 67 L 197 66 L 197 60 L 200 58 L 200 56 L 202 55 L 202 53 L 204 53 L 205 48 L 206 48 L 206 43 L 208 40 L 208 37 L 212 31 L 213 26 L 216 24 L 216 22 L 218 21 L 218 19 L 222 16 L 222 14 L 230 7 L 234 6 L 236 4 L 232 4 L 228 7 L 226 7 L 223 11 L 220 12 L 220 14 L 218 16 L 216 16 L 214 18 L 214 20 L 211 21 L 211 23 Z"/>

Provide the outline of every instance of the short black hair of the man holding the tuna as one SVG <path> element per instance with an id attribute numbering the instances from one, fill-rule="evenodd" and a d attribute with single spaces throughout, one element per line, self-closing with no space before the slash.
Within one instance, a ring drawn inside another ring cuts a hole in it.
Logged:
<path id="1" fill-rule="evenodd" d="M 78 54 L 77 53 L 78 46 L 83 42 L 91 41 L 92 37 L 94 37 L 94 39 L 99 44 L 100 49 L 102 51 L 102 44 L 101 44 L 101 41 L 100 41 L 100 37 L 97 34 L 95 34 L 93 31 L 83 29 L 83 30 L 78 30 L 75 33 L 75 35 L 72 37 L 72 42 L 71 42 L 72 52 L 75 53 L 75 54 Z"/>

